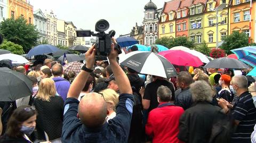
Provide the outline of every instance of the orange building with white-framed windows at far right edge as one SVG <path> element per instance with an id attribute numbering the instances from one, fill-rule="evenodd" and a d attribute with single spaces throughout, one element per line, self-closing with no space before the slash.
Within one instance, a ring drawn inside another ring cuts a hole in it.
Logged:
<path id="1" fill-rule="evenodd" d="M 229 9 L 229 33 L 234 31 L 250 33 L 250 0 L 231 1 Z M 252 1 L 252 7 L 255 7 L 255 1 Z M 251 16 L 251 42 L 255 42 L 255 9 L 252 9 Z"/>

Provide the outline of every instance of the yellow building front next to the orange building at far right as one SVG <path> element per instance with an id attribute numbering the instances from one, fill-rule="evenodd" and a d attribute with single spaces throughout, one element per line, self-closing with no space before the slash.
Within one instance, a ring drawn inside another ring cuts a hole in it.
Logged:
<path id="1" fill-rule="evenodd" d="M 217 19 L 216 9 L 220 4 L 224 3 L 225 0 L 209 0 L 206 4 L 204 14 L 204 41 L 209 48 L 216 47 L 216 32 L 217 32 Z M 226 0 L 228 3 L 228 0 Z M 222 37 L 228 35 L 228 8 L 226 7 L 222 11 L 218 12 L 218 45 L 222 43 Z"/>

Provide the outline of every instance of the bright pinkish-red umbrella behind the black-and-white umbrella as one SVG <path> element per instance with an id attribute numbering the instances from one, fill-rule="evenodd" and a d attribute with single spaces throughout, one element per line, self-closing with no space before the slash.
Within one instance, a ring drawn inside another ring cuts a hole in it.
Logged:
<path id="1" fill-rule="evenodd" d="M 168 61 L 175 65 L 195 67 L 203 65 L 202 61 L 197 56 L 181 50 L 168 50 L 159 52 L 158 54 L 164 56 Z"/>

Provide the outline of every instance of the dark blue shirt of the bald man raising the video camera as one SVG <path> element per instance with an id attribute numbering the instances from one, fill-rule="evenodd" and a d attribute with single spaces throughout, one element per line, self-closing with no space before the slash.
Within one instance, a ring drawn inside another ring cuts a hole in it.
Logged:
<path id="1" fill-rule="evenodd" d="M 65 142 L 127 142 L 131 118 L 133 97 L 130 94 L 119 95 L 116 116 L 99 128 L 86 128 L 77 118 L 79 101 L 67 98 L 65 101 L 62 143 Z"/>

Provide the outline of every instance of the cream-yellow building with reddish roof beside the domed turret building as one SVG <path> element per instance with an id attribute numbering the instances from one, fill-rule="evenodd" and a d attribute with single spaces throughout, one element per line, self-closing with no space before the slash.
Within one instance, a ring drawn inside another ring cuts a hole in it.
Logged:
<path id="1" fill-rule="evenodd" d="M 175 38 L 176 30 L 176 10 L 179 8 L 180 0 L 173 0 L 164 3 L 163 12 L 159 20 L 159 38 L 168 37 Z"/>

